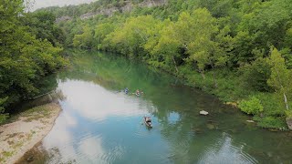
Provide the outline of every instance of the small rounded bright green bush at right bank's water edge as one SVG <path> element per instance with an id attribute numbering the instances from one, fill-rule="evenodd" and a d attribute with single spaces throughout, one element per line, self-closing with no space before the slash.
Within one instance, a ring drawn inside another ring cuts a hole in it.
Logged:
<path id="1" fill-rule="evenodd" d="M 264 108 L 259 99 L 251 97 L 249 100 L 243 100 L 239 103 L 238 107 L 247 114 L 258 114 L 264 111 Z"/>

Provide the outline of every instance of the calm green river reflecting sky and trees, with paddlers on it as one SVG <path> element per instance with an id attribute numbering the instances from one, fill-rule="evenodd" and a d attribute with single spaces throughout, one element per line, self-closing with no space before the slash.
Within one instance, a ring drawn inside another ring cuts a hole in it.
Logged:
<path id="1" fill-rule="evenodd" d="M 291 133 L 256 128 L 238 109 L 122 56 L 71 50 L 49 78 L 63 111 L 37 149 L 47 163 L 289 163 Z M 129 94 L 122 89 L 128 87 Z M 137 97 L 136 89 L 144 93 Z M 206 110 L 208 116 L 200 116 Z M 142 123 L 152 118 L 153 128 Z M 37 159 L 37 158 L 36 158 Z"/>

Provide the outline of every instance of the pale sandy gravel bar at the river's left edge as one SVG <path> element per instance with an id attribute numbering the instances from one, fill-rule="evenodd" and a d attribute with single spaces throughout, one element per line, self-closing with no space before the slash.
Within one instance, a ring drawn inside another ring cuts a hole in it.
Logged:
<path id="1" fill-rule="evenodd" d="M 15 163 L 47 136 L 61 108 L 57 103 L 31 108 L 0 127 L 0 163 Z"/>

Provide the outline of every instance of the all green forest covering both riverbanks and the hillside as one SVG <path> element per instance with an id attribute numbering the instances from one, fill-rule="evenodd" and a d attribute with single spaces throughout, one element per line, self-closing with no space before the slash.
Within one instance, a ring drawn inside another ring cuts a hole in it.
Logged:
<path id="1" fill-rule="evenodd" d="M 292 0 L 153 0 L 160 5 L 152 6 L 99 0 L 34 13 L 24 13 L 21 1 L 5 2 L 4 108 L 32 97 L 41 77 L 66 65 L 64 46 L 114 52 L 160 68 L 240 108 L 262 128 L 285 130 L 292 118 Z"/>

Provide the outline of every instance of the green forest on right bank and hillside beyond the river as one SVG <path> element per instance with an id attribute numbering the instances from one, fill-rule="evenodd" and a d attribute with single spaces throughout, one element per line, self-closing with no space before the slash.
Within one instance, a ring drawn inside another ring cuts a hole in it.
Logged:
<path id="1" fill-rule="evenodd" d="M 57 23 L 65 46 L 141 60 L 240 108 L 260 127 L 287 129 L 285 119 L 292 117 L 291 0 L 139 3 L 99 0 L 39 11 L 71 16 Z M 125 5 L 132 9 L 123 12 Z M 112 7 L 118 10 L 99 14 L 100 8 Z M 96 15 L 81 18 L 90 12 Z"/>

